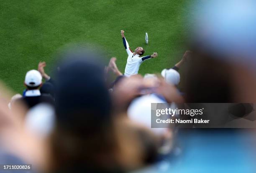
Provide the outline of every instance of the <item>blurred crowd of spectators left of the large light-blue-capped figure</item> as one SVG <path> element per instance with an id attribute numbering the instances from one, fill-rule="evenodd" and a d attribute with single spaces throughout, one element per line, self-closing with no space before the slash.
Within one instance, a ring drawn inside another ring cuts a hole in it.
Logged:
<path id="1" fill-rule="evenodd" d="M 178 70 L 189 56 L 144 77 L 125 77 L 116 58 L 104 66 L 86 50 L 63 55 L 52 76 L 39 62 L 26 73 L 23 94 L 1 100 L 3 158 L 46 172 L 123 172 L 154 163 L 170 151 L 173 132 L 151 128 L 151 103 L 183 102 Z"/>

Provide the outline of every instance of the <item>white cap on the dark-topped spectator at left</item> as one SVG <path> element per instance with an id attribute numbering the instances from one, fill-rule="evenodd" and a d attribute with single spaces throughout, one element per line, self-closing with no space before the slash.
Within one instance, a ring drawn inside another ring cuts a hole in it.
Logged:
<path id="1" fill-rule="evenodd" d="M 39 86 L 42 83 L 42 75 L 37 70 L 29 70 L 25 77 L 25 84 L 30 87 Z"/>

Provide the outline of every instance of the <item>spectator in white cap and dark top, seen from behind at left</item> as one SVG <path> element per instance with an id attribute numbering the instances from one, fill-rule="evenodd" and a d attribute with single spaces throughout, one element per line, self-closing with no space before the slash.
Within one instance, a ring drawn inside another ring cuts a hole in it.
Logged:
<path id="1" fill-rule="evenodd" d="M 17 99 L 16 102 L 22 102 L 28 108 L 32 108 L 38 103 L 49 103 L 54 105 L 54 99 L 48 94 L 41 94 L 39 88 L 42 85 L 42 75 L 37 70 L 30 70 L 25 77 L 26 92 L 23 98 Z"/>

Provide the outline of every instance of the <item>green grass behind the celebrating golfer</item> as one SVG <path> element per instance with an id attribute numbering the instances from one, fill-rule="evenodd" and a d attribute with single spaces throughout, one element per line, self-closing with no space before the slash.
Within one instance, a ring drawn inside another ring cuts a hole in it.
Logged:
<path id="1" fill-rule="evenodd" d="M 184 53 L 187 9 L 183 0 L 0 0 L 0 79 L 21 93 L 28 70 L 46 61 L 49 72 L 56 50 L 77 42 L 100 45 L 124 72 L 127 54 L 120 30 L 131 49 L 141 46 L 145 55 L 159 54 L 139 73 L 160 73 Z"/>

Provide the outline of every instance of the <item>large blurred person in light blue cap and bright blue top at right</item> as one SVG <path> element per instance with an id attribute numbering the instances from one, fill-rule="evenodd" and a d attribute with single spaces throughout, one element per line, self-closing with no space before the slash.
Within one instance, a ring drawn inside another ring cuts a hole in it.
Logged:
<path id="1" fill-rule="evenodd" d="M 191 11 L 195 15 L 189 18 L 194 27 L 190 32 L 192 61 L 187 69 L 186 102 L 255 103 L 256 2 L 210 0 L 200 1 L 195 7 Z M 253 173 L 253 133 L 241 129 L 179 129 L 177 138 L 183 154 L 166 172 Z"/>

